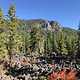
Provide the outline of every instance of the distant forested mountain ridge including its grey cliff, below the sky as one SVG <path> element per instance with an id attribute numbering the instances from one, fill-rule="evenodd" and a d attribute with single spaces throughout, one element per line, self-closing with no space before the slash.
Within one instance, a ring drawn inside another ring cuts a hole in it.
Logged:
<path id="1" fill-rule="evenodd" d="M 17 28 L 17 31 L 21 35 L 26 35 L 29 33 L 31 27 L 36 23 L 36 25 L 40 28 L 43 34 L 48 33 L 50 30 L 54 33 L 57 32 L 64 32 L 66 34 L 72 34 L 76 35 L 77 30 L 67 28 L 67 27 L 62 27 L 61 24 L 59 24 L 56 21 L 46 21 L 43 19 L 31 19 L 31 20 L 19 20 L 19 26 Z"/>

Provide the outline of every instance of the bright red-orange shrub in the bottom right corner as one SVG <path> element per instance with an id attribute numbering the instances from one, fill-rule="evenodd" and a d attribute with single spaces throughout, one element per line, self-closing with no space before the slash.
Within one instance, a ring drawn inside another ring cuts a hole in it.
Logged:
<path id="1" fill-rule="evenodd" d="M 63 71 L 59 72 L 59 74 L 57 74 L 56 72 L 51 74 L 48 80 L 77 80 L 78 77 L 75 76 L 77 72 L 73 71 L 74 69 L 66 74 L 66 68 L 63 68 Z"/>

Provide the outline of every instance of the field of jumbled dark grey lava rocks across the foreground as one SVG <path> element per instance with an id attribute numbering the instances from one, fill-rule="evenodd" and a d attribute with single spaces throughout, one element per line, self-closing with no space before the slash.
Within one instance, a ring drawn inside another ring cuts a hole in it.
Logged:
<path id="1" fill-rule="evenodd" d="M 4 59 L 4 61 L 7 61 L 8 67 L 9 59 Z M 44 76 L 47 80 L 53 73 L 53 68 L 54 72 L 57 73 L 62 68 L 66 68 L 67 73 L 75 68 L 75 72 L 78 72 L 77 76 L 80 77 L 80 59 L 62 54 L 14 54 L 11 65 L 5 74 L 0 75 L 0 80 L 39 80 L 41 76 Z M 11 73 L 9 72 L 10 70 Z"/>

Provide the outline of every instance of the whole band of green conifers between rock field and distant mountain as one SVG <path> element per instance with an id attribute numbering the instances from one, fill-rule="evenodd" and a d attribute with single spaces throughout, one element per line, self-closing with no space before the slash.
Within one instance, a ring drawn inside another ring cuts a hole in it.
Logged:
<path id="1" fill-rule="evenodd" d="M 4 19 L 3 11 L 0 6 L 0 60 L 6 55 L 13 53 L 52 53 L 65 54 L 69 56 L 79 57 L 79 37 L 63 32 L 54 33 L 47 31 L 45 35 L 40 28 L 34 24 L 28 35 L 21 36 L 17 33 L 19 27 L 19 19 L 16 16 L 16 10 L 11 6 Z M 8 27 L 8 34 L 5 34 Z M 25 30 L 24 30 L 25 31 Z"/>

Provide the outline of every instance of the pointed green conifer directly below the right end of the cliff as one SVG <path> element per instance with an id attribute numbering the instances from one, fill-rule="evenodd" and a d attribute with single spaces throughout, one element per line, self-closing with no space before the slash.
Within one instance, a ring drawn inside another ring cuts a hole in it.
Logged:
<path id="1" fill-rule="evenodd" d="M 64 34 L 61 32 L 61 39 L 59 41 L 59 50 L 61 54 L 65 54 L 67 55 L 67 49 L 66 49 L 66 44 L 65 44 L 65 40 L 64 40 L 65 36 Z"/>

